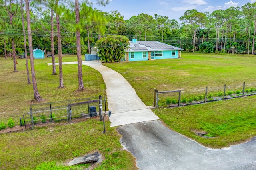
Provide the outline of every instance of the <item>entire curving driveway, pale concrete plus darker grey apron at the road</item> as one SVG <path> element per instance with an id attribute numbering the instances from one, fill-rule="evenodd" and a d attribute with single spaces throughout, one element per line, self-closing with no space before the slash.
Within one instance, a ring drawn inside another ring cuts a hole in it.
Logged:
<path id="1" fill-rule="evenodd" d="M 224 149 L 204 147 L 158 121 L 119 73 L 98 61 L 82 64 L 102 74 L 113 113 L 110 126 L 122 125 L 117 128 L 120 142 L 136 157 L 141 170 L 256 170 L 256 137 Z"/>

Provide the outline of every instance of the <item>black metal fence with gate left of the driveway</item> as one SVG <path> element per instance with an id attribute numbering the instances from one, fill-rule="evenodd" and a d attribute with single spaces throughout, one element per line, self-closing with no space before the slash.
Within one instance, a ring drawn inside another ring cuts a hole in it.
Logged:
<path id="1" fill-rule="evenodd" d="M 20 118 L 20 125 L 34 128 L 34 125 L 50 122 L 68 121 L 88 118 L 106 113 L 106 98 L 99 96 L 60 102 L 30 105 L 30 112 Z"/>

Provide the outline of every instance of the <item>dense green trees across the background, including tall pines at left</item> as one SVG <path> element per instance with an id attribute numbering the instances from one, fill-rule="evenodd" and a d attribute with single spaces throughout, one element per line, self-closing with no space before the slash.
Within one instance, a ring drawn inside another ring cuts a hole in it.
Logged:
<path id="1" fill-rule="evenodd" d="M 108 0 L 98 0 L 106 5 Z M 203 53 L 254 54 L 256 34 L 256 2 L 226 10 L 198 12 L 187 10 L 180 16 L 181 23 L 167 16 L 139 14 L 128 20 L 118 10 L 110 13 L 93 8 L 90 1 L 75 0 L 0 0 L 0 54 L 13 58 L 14 72 L 17 53 L 30 53 L 34 91 L 32 49 L 52 53 L 52 74 L 56 75 L 55 56 L 59 58 L 60 86 L 62 53 L 78 57 L 79 88 L 83 90 L 81 54 L 90 53 L 96 41 L 108 35 L 122 35 L 128 39 L 156 40 Z M 30 24 L 31 23 L 31 24 Z M 29 70 L 26 66 L 29 80 Z M 36 97 L 40 101 L 40 98 Z"/>

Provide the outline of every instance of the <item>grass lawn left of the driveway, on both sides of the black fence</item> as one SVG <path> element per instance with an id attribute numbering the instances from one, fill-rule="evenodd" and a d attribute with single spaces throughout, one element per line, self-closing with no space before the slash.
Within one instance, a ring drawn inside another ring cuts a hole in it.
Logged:
<path id="1" fill-rule="evenodd" d="M 84 60 L 84 57 L 82 57 Z M 51 58 L 36 59 L 35 70 L 38 91 L 43 102 L 56 102 L 106 95 L 106 86 L 101 74 L 82 66 L 86 91 L 75 92 L 78 88 L 77 65 L 63 65 L 64 89 L 58 89 L 59 75 L 52 74 Z M 19 125 L 19 118 L 29 112 L 32 104 L 33 87 L 27 84 L 25 59 L 18 59 L 18 73 L 13 73 L 13 61 L 0 57 L 0 122 L 7 125 L 12 117 Z M 76 56 L 64 56 L 63 62 L 77 61 Z M 29 61 L 30 62 L 30 61 Z M 58 62 L 58 57 L 56 58 Z M 58 66 L 56 66 L 58 72 Z M 30 79 L 31 80 L 31 79 Z M 106 121 L 106 127 L 110 122 Z M 120 135 L 115 128 L 103 131 L 103 122 L 87 119 L 80 123 L 66 125 L 48 124 L 35 126 L 34 130 L 0 134 L 1 170 L 67 170 L 68 161 L 98 150 L 105 160 L 96 169 L 137 169 L 135 158 L 124 151 L 119 142 Z M 82 170 L 90 165 L 73 166 Z"/>

